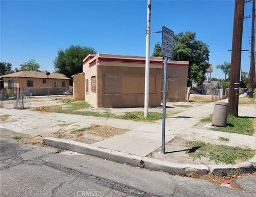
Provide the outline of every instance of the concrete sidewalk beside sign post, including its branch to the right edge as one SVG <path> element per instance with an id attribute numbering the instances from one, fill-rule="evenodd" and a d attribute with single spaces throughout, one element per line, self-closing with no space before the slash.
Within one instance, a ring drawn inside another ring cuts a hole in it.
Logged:
<path id="1" fill-rule="evenodd" d="M 222 100 L 222 102 L 228 102 L 228 100 L 225 99 Z M 221 144 L 218 141 L 218 136 L 228 136 L 230 138 L 230 142 L 226 145 L 250 147 L 255 149 L 255 136 L 244 136 L 240 134 L 192 128 L 201 119 L 212 114 L 213 108 L 214 103 L 209 103 L 166 118 L 165 143 L 171 141 L 174 137 L 179 136 L 188 140 L 196 139 L 204 142 L 215 142 L 215 144 Z M 250 110 L 250 106 L 247 105 L 239 106 L 239 114 L 242 114 L 242 116 L 255 117 L 253 115 L 254 111 Z M 162 120 L 158 120 L 154 122 L 154 124 L 142 125 L 130 130 L 129 132 L 110 137 L 103 141 L 94 143 L 93 145 L 146 157 L 146 155 L 158 149 L 158 147 L 162 145 Z"/>

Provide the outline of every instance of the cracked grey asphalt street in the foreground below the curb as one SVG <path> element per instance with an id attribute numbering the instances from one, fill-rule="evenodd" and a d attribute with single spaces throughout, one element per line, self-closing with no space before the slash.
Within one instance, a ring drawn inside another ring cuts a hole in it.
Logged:
<path id="1" fill-rule="evenodd" d="M 1 196 L 256 196 L 256 177 L 243 191 L 1 137 Z"/>

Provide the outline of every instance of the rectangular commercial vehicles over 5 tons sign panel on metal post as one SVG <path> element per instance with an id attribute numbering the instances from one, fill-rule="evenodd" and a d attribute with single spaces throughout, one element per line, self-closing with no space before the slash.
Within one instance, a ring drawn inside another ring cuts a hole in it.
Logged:
<path id="1" fill-rule="evenodd" d="M 172 59 L 173 31 L 163 26 L 162 28 L 162 56 Z"/>

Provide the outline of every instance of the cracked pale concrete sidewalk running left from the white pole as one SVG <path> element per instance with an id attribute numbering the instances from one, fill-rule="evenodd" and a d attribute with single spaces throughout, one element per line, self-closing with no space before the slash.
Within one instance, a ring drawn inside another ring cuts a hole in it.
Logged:
<path id="1" fill-rule="evenodd" d="M 9 114 L 7 121 L 1 121 L 0 129 L 12 130 L 15 133 L 23 133 L 31 136 L 50 134 L 63 129 L 77 129 L 90 127 L 91 125 L 111 126 L 122 129 L 134 129 L 145 125 L 145 122 L 121 120 L 111 118 L 99 118 L 63 113 L 37 112 L 31 110 L 0 109 L 0 114 Z"/>

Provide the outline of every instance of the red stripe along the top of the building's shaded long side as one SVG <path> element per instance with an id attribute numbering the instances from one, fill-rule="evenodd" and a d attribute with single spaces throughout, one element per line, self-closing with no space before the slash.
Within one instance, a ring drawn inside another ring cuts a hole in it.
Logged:
<path id="1" fill-rule="evenodd" d="M 137 60 L 137 59 L 123 59 L 123 58 L 101 58 L 99 57 L 98 58 L 98 61 L 104 61 L 104 62 L 125 62 L 125 63 L 145 63 L 146 60 Z M 159 65 L 163 65 L 164 62 L 161 60 L 150 60 L 150 63 L 151 64 L 159 64 Z M 188 64 L 186 63 L 168 63 L 168 65 L 171 65 L 171 66 L 176 66 L 176 67 L 179 67 L 179 66 L 186 66 L 188 67 Z"/>

